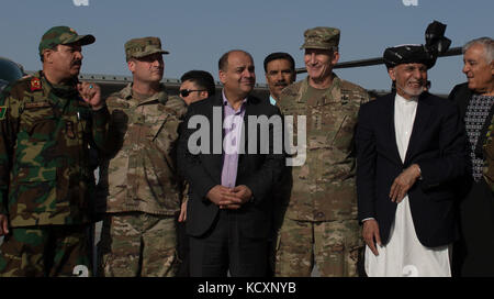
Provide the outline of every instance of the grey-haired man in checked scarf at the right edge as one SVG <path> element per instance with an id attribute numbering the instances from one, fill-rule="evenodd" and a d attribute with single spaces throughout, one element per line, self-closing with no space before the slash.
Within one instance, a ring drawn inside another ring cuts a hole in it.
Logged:
<path id="1" fill-rule="evenodd" d="M 485 158 L 492 156 L 482 151 L 486 139 L 492 139 L 486 132 L 492 130 L 489 126 L 494 114 L 494 41 L 481 37 L 468 42 L 463 63 L 468 82 L 457 85 L 449 95 L 460 108 L 470 155 L 469 173 L 458 185 L 461 239 L 453 250 L 454 274 L 494 276 L 494 196 L 484 180 L 489 176 L 483 176 L 492 174 L 492 165 L 484 165 Z"/>

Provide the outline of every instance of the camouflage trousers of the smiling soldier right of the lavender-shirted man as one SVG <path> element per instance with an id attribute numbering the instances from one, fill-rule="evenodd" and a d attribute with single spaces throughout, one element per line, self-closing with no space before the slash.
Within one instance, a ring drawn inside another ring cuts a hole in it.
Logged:
<path id="1" fill-rule="evenodd" d="M 357 220 L 284 219 L 277 240 L 274 274 L 307 277 L 315 263 L 322 277 L 357 277 L 362 256 L 363 240 Z"/>

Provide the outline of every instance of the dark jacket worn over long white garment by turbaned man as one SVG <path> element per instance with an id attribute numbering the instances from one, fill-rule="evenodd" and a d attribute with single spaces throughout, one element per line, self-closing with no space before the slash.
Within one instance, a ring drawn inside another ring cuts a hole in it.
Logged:
<path id="1" fill-rule="evenodd" d="M 396 203 L 389 193 L 394 179 L 418 164 L 422 179 L 408 190 L 415 232 L 424 246 L 446 245 L 457 237 L 451 182 L 464 174 L 464 131 L 458 108 L 424 92 L 418 99 L 405 156 L 400 158 L 394 131 L 395 93 L 360 108 L 357 126 L 357 192 L 359 220 L 374 218 L 386 244 Z"/>

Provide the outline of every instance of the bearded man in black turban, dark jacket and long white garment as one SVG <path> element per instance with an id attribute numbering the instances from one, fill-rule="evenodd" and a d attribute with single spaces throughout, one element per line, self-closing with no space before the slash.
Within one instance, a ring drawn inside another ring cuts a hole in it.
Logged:
<path id="1" fill-rule="evenodd" d="M 424 91 L 435 60 L 422 45 L 386 48 L 396 91 L 360 108 L 357 192 L 369 276 L 451 275 L 451 182 L 464 173 L 464 134 L 458 109 Z"/>

